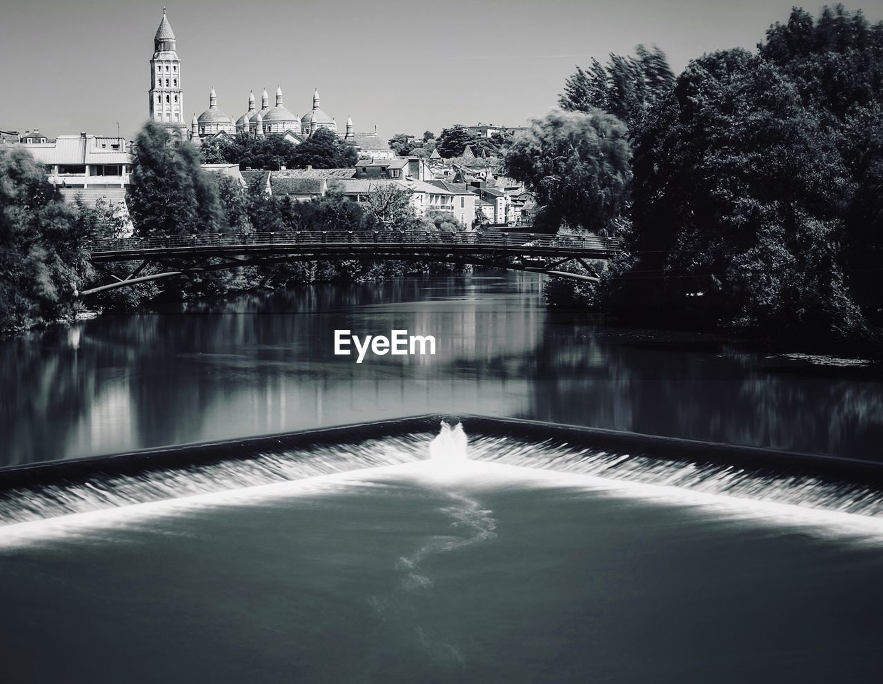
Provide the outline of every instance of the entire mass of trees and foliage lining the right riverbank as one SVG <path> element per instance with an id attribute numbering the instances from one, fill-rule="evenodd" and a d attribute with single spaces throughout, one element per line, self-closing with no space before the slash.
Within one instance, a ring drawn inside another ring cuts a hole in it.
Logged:
<path id="1" fill-rule="evenodd" d="M 711 52 L 668 73 L 646 49 L 578 70 L 561 98 L 569 113 L 532 126 L 532 165 L 510 150 L 509 172 L 547 193 L 540 215 L 628 247 L 597 285 L 553 280 L 549 302 L 879 353 L 883 24 L 841 5 L 818 19 L 795 9 L 756 52 Z M 600 147 L 594 161 L 562 150 L 558 122 L 575 116 L 620 121 L 630 182 Z M 555 182 L 577 163 L 594 175 Z"/>

